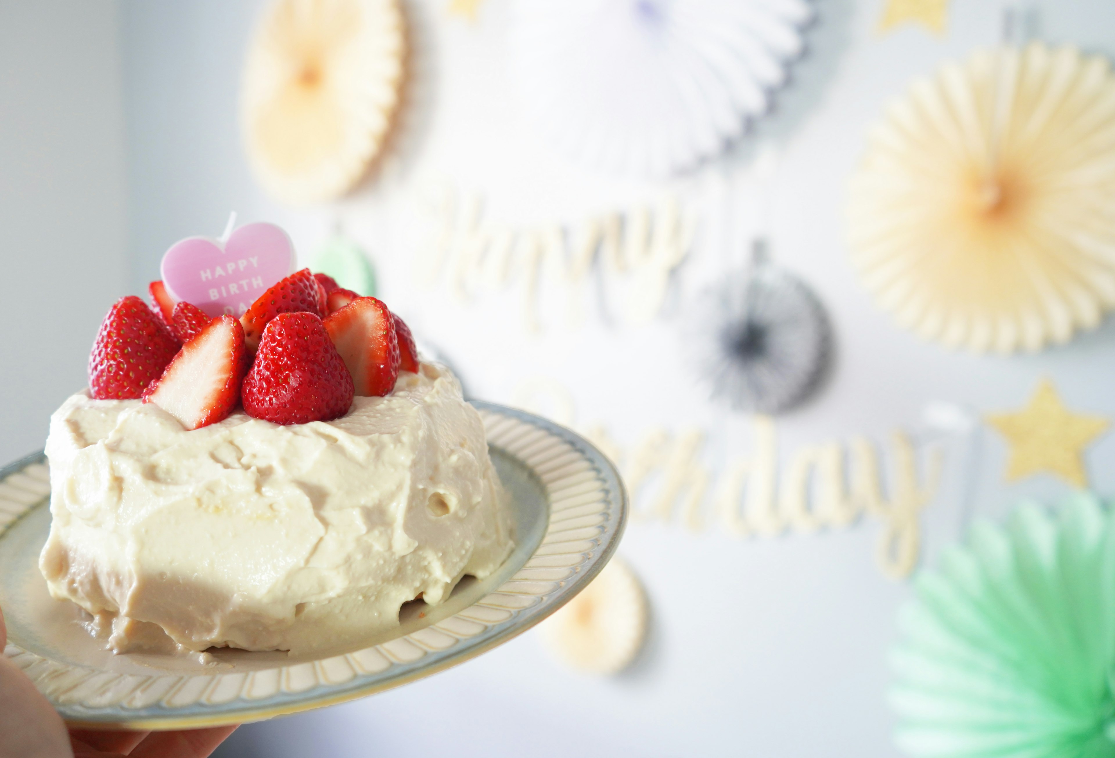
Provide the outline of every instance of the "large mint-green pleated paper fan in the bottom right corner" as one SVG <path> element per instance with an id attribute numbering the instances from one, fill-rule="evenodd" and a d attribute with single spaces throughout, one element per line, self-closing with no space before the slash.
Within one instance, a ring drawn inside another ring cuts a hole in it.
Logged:
<path id="1" fill-rule="evenodd" d="M 1087 494 L 979 523 L 917 580 L 892 655 L 913 756 L 1115 756 L 1115 516 Z"/>

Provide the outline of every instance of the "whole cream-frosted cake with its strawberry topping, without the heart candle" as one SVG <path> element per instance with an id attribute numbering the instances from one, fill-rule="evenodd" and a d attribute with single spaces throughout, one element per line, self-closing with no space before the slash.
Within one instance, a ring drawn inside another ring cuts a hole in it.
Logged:
<path id="1" fill-rule="evenodd" d="M 40 570 L 116 652 L 301 652 L 512 550 L 479 416 L 376 298 L 302 270 L 241 318 L 152 284 L 50 419 Z"/>

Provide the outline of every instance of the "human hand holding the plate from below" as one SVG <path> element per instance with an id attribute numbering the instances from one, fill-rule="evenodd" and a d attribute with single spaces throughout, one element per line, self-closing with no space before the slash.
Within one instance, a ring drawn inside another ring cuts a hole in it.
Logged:
<path id="1" fill-rule="evenodd" d="M 205 758 L 236 728 L 67 730 L 31 680 L 2 654 L 7 643 L 0 612 L 0 758 Z"/>

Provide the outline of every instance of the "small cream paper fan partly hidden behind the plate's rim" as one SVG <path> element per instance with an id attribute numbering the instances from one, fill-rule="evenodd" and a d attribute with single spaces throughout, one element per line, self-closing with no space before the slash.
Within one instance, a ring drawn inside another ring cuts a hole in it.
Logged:
<path id="1" fill-rule="evenodd" d="M 543 638 L 562 660 L 601 674 L 627 668 L 642 648 L 646 632 L 647 596 L 618 557 L 542 624 Z"/>

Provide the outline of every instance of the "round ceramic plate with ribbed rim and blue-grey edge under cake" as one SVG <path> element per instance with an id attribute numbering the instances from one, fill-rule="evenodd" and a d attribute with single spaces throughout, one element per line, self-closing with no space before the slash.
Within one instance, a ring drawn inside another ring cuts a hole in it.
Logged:
<path id="1" fill-rule="evenodd" d="M 464 581 L 440 605 L 410 604 L 401 625 L 303 657 L 219 650 L 215 663 L 114 655 L 52 600 L 38 555 L 50 526 L 41 454 L 0 469 L 0 608 L 4 652 L 70 723 L 178 729 L 294 713 L 426 677 L 530 629 L 580 592 L 615 550 L 627 495 L 592 445 L 550 421 L 487 402 L 484 419 L 507 488 L 515 552 L 492 576 Z"/>

